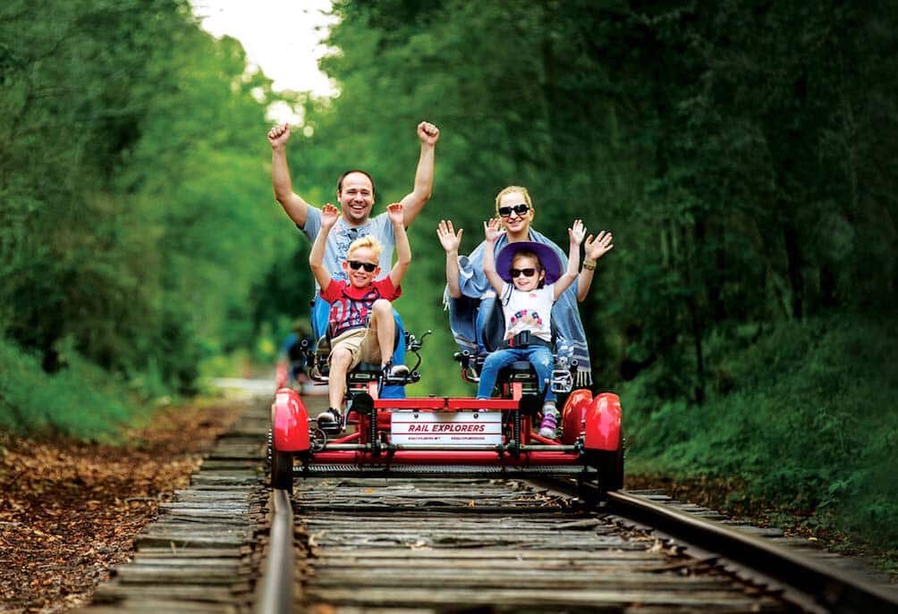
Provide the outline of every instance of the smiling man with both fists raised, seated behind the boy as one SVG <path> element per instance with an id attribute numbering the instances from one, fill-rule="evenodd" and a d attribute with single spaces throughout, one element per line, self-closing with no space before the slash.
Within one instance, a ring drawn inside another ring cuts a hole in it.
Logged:
<path id="1" fill-rule="evenodd" d="M 439 128 L 427 121 L 418 124 L 418 139 L 421 152 L 418 157 L 418 168 L 415 171 L 415 184 L 409 194 L 399 201 L 402 205 L 403 225 L 409 225 L 421 212 L 430 198 L 434 185 L 434 165 L 436 160 L 436 141 L 439 139 Z M 290 138 L 290 126 L 281 124 L 272 127 L 268 134 L 271 145 L 271 184 L 277 202 L 284 208 L 286 215 L 309 238 L 314 241 L 321 232 L 321 209 L 309 205 L 293 191 L 293 181 L 286 163 L 286 143 Z M 379 275 L 386 276 L 392 268 L 392 253 L 396 245 L 396 235 L 389 217 L 385 214 L 371 217 L 374 207 L 374 179 L 365 171 L 352 170 L 344 172 L 337 180 L 337 200 L 341 215 L 328 235 L 324 247 L 323 266 L 333 279 L 347 279 L 341 263 L 346 260 L 349 244 L 358 238 L 371 235 L 382 246 L 380 254 Z M 312 308 L 312 332 L 315 338 L 321 338 L 327 329 L 330 305 L 321 299 L 316 288 Z M 402 321 L 394 311 L 396 325 L 401 330 Z M 405 344 L 401 343 L 393 355 L 396 364 L 405 360 Z M 385 387 L 384 398 L 404 396 L 401 387 Z"/>

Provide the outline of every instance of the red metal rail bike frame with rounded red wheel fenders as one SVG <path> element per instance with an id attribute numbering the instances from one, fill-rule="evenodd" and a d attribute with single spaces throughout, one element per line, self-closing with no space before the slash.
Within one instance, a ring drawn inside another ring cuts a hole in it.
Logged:
<path id="1" fill-rule="evenodd" d="M 501 398 L 488 400 L 380 399 L 383 385 L 397 382 L 364 365 L 349 373 L 347 383 L 345 428 L 330 438 L 310 420 L 295 390 L 277 390 L 269 442 L 272 487 L 292 490 L 296 477 L 400 475 L 566 476 L 598 479 L 605 491 L 623 485 L 621 402 L 611 392 L 571 392 L 562 408 L 562 434 L 551 440 L 532 430 L 542 405 L 541 396 L 527 393 L 537 389 L 533 373 L 500 377 Z M 415 425 L 418 431 L 409 434 Z"/>

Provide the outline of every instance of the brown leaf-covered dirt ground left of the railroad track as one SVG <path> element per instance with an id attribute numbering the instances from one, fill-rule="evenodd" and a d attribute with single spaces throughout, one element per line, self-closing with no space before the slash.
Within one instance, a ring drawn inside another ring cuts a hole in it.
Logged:
<path id="1" fill-rule="evenodd" d="M 128 434 L 130 447 L 0 435 L 0 611 L 60 612 L 89 601 L 245 408 L 160 409 Z"/>

